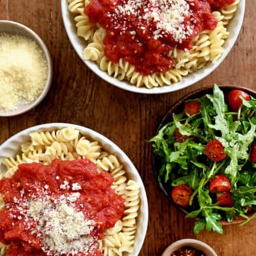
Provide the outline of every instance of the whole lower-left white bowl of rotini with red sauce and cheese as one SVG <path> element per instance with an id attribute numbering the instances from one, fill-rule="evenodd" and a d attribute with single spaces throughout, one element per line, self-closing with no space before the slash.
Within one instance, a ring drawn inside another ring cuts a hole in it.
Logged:
<path id="1" fill-rule="evenodd" d="M 134 256 L 148 227 L 131 160 L 103 135 L 68 123 L 25 129 L 0 146 L 0 212 L 0 255 Z"/>

